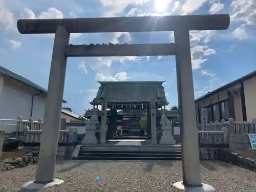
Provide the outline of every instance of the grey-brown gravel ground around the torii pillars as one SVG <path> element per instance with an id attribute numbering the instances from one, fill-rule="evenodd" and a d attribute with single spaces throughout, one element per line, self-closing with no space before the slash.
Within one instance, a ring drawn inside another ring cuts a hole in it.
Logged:
<path id="1" fill-rule="evenodd" d="M 201 163 L 202 180 L 218 192 L 255 192 L 256 174 L 219 161 Z M 0 175 L 0 191 L 26 191 L 20 186 L 34 179 L 36 165 L 10 170 Z M 100 176 L 99 180 L 96 177 Z M 55 177 L 62 185 L 38 191 L 181 191 L 173 183 L 182 181 L 181 162 L 58 161 Z"/>

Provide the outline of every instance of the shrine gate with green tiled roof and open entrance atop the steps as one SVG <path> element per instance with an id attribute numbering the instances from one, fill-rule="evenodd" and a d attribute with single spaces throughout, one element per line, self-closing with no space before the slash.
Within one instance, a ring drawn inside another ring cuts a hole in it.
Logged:
<path id="1" fill-rule="evenodd" d="M 94 110 L 101 105 L 101 110 L 97 112 L 100 135 L 106 132 L 106 137 L 101 138 L 100 143 L 123 138 L 152 139 L 156 144 L 160 110 L 168 104 L 163 82 L 99 82 L 97 95 L 90 104 Z M 86 112 L 85 116 L 90 118 L 89 115 L 92 114 Z"/>

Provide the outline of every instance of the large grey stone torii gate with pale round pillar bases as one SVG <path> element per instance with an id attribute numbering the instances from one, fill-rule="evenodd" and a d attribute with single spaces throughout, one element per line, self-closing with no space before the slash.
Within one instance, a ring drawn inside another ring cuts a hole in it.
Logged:
<path id="1" fill-rule="evenodd" d="M 18 20 L 17 28 L 21 34 L 55 33 L 37 173 L 35 181 L 24 187 L 40 188 L 46 183 L 49 186 L 63 182 L 54 179 L 54 168 L 67 57 L 175 55 L 183 182 L 174 185 L 185 191 L 215 191 L 201 182 L 189 31 L 226 30 L 229 23 L 227 14 Z M 70 33 L 150 31 L 174 31 L 175 44 L 69 45 Z"/>

